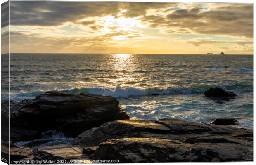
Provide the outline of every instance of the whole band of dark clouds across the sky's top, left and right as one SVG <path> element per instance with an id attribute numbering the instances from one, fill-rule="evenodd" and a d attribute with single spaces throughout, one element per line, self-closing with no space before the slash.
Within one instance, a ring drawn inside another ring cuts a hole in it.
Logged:
<path id="1" fill-rule="evenodd" d="M 253 4 L 216 4 L 214 7 L 202 7 L 194 4 L 194 8 L 185 9 L 183 3 L 147 3 L 147 2 L 49 2 L 49 1 L 11 1 L 11 25 L 27 26 L 59 26 L 66 22 L 74 22 L 89 26 L 98 31 L 96 21 L 78 20 L 95 16 L 137 17 L 143 24 L 152 28 L 165 28 L 168 33 L 198 33 L 209 35 L 228 35 L 253 37 Z M 186 5 L 185 5 L 186 6 Z M 183 7 L 184 9 L 180 9 Z M 191 7 L 191 6 L 190 6 Z M 167 16 L 150 14 L 170 12 Z M 5 10 L 6 7 L 3 8 Z M 2 19 L 2 18 L 1 18 Z M 4 20 L 4 19 L 3 19 Z M 2 21 L 1 26 L 6 26 Z"/>

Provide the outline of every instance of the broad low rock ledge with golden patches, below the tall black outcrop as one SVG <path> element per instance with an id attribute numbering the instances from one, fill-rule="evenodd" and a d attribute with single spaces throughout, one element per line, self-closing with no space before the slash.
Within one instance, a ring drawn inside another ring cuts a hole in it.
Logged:
<path id="1" fill-rule="evenodd" d="M 175 119 L 117 120 L 83 132 L 71 145 L 40 147 L 33 155 L 119 163 L 253 161 L 253 130 Z"/>

